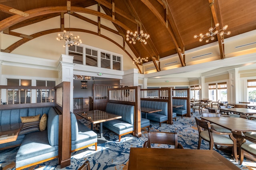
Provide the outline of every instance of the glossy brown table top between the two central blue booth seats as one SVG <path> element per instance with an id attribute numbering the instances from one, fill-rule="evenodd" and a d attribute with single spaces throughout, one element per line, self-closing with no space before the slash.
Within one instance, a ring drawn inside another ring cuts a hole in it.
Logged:
<path id="1" fill-rule="evenodd" d="M 76 114 L 87 119 L 93 124 L 122 118 L 122 116 L 114 115 L 112 113 L 108 113 L 106 111 L 101 111 L 101 110 L 90 110 L 88 112 L 76 112 Z"/>

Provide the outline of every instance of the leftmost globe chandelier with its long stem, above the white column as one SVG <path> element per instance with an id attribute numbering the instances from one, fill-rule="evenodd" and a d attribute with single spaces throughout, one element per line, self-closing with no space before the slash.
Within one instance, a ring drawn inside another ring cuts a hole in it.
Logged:
<path id="1" fill-rule="evenodd" d="M 58 33 L 58 37 L 56 38 L 58 41 L 65 40 L 65 45 L 63 47 L 68 47 L 73 46 L 73 45 L 79 45 L 79 43 L 82 43 L 82 40 L 79 39 L 79 35 L 74 36 L 73 33 L 70 33 L 70 11 L 68 11 L 69 15 L 69 34 L 66 34 L 66 30 L 63 30 L 63 35 Z M 66 35 L 65 35 L 66 34 Z"/>

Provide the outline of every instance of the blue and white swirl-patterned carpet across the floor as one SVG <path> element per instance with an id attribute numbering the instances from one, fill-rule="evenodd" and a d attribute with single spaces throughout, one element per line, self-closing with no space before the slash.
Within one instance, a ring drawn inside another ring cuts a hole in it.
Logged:
<path id="1" fill-rule="evenodd" d="M 159 123 L 150 122 L 150 131 L 166 131 L 178 133 L 178 141 L 182 144 L 184 149 L 197 149 L 198 146 L 198 129 L 196 127 L 196 121 L 194 117 L 200 117 L 198 112 L 194 113 L 192 117 L 177 117 L 177 121 L 174 121 L 173 125 L 162 123 L 159 127 Z M 82 123 L 88 125 L 84 119 L 80 119 Z M 98 144 L 98 150 L 89 147 L 88 149 L 79 150 L 72 153 L 71 165 L 62 170 L 77 170 L 85 160 L 90 161 L 92 170 L 127 170 L 129 162 L 130 147 L 142 147 L 146 138 L 146 131 L 142 131 L 142 137 L 137 138 L 133 135 L 124 135 L 121 138 L 121 142 L 118 142 L 118 135 L 103 129 L 103 133 L 110 137 L 110 141 L 104 144 Z M 165 145 L 158 145 L 156 147 L 168 147 Z M 19 147 L 6 149 L 0 151 L 0 164 L 4 170 L 15 170 L 15 156 Z M 209 149 L 209 144 L 202 141 L 201 149 Z M 214 148 L 215 149 L 215 148 Z M 216 149 L 215 149 L 216 150 Z M 252 162 L 248 159 L 244 159 L 242 165 L 234 162 L 230 154 L 216 150 L 222 154 L 225 158 L 236 164 L 242 170 L 256 170 L 256 162 Z M 182 160 L 181 160 L 182 161 Z M 58 165 L 58 159 L 54 159 L 48 162 L 44 162 L 39 165 L 26 168 L 26 170 L 60 170 Z M 207 169 L 207 168 L 206 168 Z"/>

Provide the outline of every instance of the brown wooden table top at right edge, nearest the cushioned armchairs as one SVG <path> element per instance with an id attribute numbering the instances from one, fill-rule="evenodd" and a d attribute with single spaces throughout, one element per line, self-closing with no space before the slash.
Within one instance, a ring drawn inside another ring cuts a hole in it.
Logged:
<path id="1" fill-rule="evenodd" d="M 201 117 L 210 123 L 214 123 L 230 131 L 256 131 L 256 121 L 242 117 Z"/>

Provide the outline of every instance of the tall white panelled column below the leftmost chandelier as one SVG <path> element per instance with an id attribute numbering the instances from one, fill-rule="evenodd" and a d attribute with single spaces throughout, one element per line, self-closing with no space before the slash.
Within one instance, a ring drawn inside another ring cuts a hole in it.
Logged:
<path id="1" fill-rule="evenodd" d="M 73 112 L 73 70 L 74 70 L 74 63 L 73 63 L 73 56 L 64 55 L 62 54 L 58 63 L 58 73 L 59 79 L 58 83 L 61 82 L 70 82 L 70 111 Z"/>

